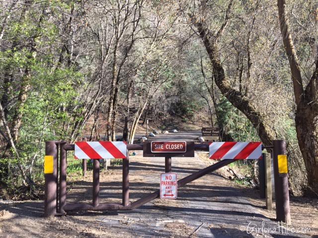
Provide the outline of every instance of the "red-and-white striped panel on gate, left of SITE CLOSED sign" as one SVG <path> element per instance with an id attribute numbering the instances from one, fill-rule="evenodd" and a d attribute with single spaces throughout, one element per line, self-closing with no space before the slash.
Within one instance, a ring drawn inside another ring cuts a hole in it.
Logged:
<path id="1" fill-rule="evenodd" d="M 123 141 L 75 142 L 77 159 L 126 159 L 127 144 Z"/>

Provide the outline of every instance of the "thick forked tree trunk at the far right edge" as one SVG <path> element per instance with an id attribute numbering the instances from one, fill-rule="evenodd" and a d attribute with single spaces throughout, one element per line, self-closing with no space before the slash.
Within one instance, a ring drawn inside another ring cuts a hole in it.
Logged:
<path id="1" fill-rule="evenodd" d="M 277 5 L 297 105 L 295 122 L 298 144 L 305 162 L 308 184 L 318 194 L 318 53 L 315 59 L 315 71 L 304 90 L 301 67 L 286 18 L 286 1 L 278 0 Z"/>

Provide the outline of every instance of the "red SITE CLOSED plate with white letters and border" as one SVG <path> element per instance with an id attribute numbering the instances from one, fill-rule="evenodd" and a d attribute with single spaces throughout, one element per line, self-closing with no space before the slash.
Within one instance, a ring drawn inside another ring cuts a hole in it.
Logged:
<path id="1" fill-rule="evenodd" d="M 187 143 L 185 141 L 152 141 L 152 153 L 184 153 L 187 151 Z"/>

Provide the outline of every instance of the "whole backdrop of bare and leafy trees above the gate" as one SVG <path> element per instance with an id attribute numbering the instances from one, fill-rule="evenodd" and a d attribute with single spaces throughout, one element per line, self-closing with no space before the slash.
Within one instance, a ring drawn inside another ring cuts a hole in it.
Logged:
<path id="1" fill-rule="evenodd" d="M 204 114 L 286 139 L 292 191 L 318 193 L 317 39 L 311 0 L 0 1 L 0 183 L 40 184 L 46 140 Z"/>

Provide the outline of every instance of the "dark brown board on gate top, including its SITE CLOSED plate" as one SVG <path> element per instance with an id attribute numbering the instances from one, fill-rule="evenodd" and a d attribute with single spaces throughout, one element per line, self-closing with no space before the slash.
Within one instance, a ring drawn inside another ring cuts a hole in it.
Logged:
<path id="1" fill-rule="evenodd" d="M 194 142 L 145 141 L 144 157 L 194 157 Z"/>

